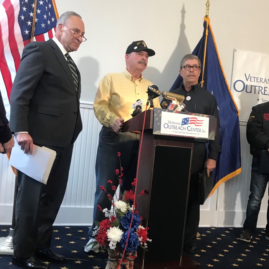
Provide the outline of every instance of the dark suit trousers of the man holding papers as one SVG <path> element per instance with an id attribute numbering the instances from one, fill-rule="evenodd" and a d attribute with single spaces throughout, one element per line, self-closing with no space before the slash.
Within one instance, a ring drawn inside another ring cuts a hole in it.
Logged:
<path id="1" fill-rule="evenodd" d="M 64 198 L 73 144 L 63 148 L 47 147 L 55 150 L 57 155 L 46 185 L 18 171 L 13 235 L 14 256 L 17 257 L 29 258 L 35 249 L 50 247 L 52 225 Z"/>

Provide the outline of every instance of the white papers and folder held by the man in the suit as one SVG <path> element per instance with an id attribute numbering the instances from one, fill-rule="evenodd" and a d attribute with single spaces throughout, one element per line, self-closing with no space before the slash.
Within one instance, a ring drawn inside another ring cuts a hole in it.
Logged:
<path id="1" fill-rule="evenodd" d="M 36 145 L 32 155 L 29 152 L 25 154 L 15 140 L 9 164 L 29 177 L 46 184 L 55 157 L 56 151 Z"/>

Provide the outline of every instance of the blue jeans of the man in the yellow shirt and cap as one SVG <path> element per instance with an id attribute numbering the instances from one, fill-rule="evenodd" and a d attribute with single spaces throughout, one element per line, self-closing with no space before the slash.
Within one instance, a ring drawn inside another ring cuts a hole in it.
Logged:
<path id="1" fill-rule="evenodd" d="M 119 133 L 116 134 L 111 128 L 103 126 L 99 134 L 99 144 L 96 155 L 95 175 L 96 175 L 96 191 L 94 195 L 94 214 L 93 225 L 88 232 L 89 238 L 92 238 L 95 221 L 105 219 L 105 214 L 97 209 L 100 205 L 102 209 L 111 208 L 111 202 L 107 197 L 107 193 L 100 189 L 104 186 L 108 193 L 112 195 L 115 191 L 112 190 L 110 179 L 113 185 L 118 186 L 118 176 L 115 174 L 116 169 L 123 167 L 123 182 L 121 190 L 130 190 L 131 182 L 136 177 L 137 158 L 138 158 L 139 135 L 135 133 Z M 117 153 L 120 152 L 120 161 Z"/>

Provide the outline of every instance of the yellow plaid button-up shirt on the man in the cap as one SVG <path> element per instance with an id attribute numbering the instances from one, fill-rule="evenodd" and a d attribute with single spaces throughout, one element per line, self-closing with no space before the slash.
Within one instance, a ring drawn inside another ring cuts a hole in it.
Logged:
<path id="1" fill-rule="evenodd" d="M 134 80 L 127 69 L 122 73 L 109 73 L 101 80 L 94 100 L 94 114 L 99 122 L 112 127 L 118 118 L 124 121 L 131 119 L 132 104 L 136 100 L 143 101 L 142 111 L 146 109 L 148 99 L 147 89 L 151 86 L 149 80 L 141 78 Z M 159 98 L 153 99 L 154 107 L 160 108 Z M 149 108 L 149 106 L 148 106 Z"/>

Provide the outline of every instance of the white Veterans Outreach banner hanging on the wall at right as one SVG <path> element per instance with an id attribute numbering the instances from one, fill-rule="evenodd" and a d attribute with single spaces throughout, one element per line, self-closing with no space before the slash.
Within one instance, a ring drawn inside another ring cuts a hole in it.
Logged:
<path id="1" fill-rule="evenodd" d="M 239 119 L 248 120 L 252 106 L 269 101 L 269 54 L 234 49 L 231 92 Z"/>

